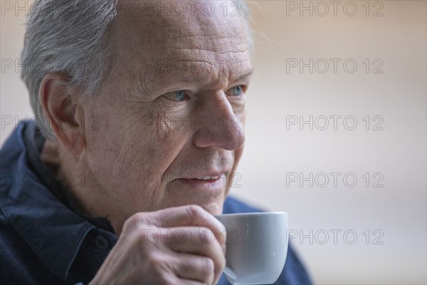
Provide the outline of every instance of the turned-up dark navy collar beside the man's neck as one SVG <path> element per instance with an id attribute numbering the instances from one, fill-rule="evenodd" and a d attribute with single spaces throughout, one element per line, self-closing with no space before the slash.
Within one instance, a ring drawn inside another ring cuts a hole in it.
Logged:
<path id="1" fill-rule="evenodd" d="M 28 150 L 33 152 L 36 145 L 33 132 L 33 126 L 22 123 L 2 147 L 2 160 L 11 165 L 1 169 L 0 207 L 41 261 L 66 279 L 83 240 L 96 227 L 61 203 L 31 170 L 28 157 L 34 153 Z"/>

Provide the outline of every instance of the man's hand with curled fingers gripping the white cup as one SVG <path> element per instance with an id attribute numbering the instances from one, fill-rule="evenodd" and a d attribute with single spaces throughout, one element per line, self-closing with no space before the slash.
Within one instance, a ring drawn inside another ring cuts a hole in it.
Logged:
<path id="1" fill-rule="evenodd" d="M 223 224 L 196 205 L 134 214 L 90 284 L 216 284 L 225 237 Z"/>

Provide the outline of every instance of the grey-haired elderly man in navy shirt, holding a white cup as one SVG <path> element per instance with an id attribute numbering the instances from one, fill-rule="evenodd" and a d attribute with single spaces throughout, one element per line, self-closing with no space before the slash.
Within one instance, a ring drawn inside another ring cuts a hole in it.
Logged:
<path id="1" fill-rule="evenodd" d="M 22 77 L 37 122 L 1 149 L 1 281 L 227 284 L 213 214 L 258 211 L 226 199 L 247 18 L 240 1 L 35 1 Z M 292 249 L 277 283 L 310 283 Z"/>

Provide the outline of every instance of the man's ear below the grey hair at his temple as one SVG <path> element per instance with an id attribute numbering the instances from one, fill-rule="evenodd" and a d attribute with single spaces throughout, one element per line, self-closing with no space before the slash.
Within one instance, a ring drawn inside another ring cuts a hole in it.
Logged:
<path id="1" fill-rule="evenodd" d="M 76 157 L 86 145 L 83 109 L 78 93 L 67 85 L 69 79 L 59 73 L 48 73 L 38 90 L 38 97 L 56 140 Z M 83 128 L 81 128 L 83 127 Z"/>

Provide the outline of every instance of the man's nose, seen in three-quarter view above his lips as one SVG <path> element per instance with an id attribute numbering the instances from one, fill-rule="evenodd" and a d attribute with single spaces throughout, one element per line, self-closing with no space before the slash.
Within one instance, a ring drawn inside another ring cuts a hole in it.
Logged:
<path id="1" fill-rule="evenodd" d="M 217 92 L 204 98 L 201 122 L 193 137 L 197 147 L 220 147 L 236 150 L 245 142 L 243 115 L 234 113 L 226 94 Z"/>

